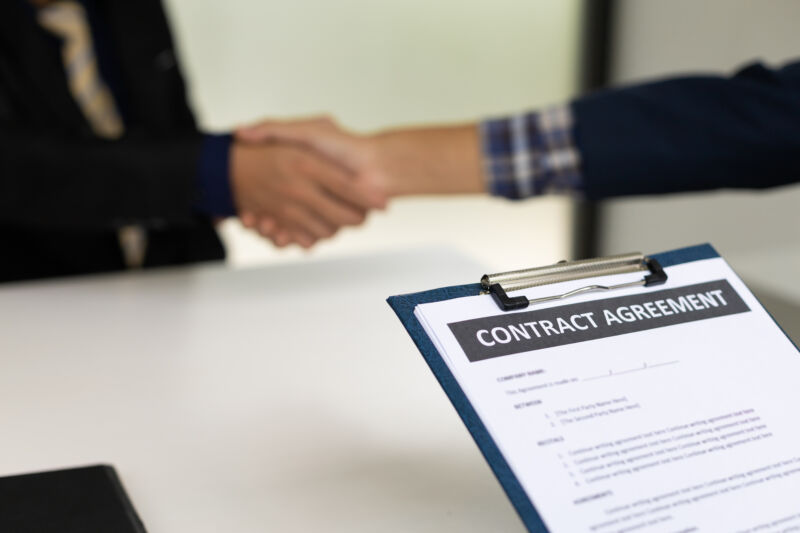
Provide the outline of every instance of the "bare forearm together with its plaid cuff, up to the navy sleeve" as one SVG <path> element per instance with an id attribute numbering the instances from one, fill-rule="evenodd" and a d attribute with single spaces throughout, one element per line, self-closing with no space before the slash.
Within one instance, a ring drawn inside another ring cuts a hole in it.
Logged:
<path id="1" fill-rule="evenodd" d="M 394 130 L 372 138 L 389 194 L 489 192 L 525 198 L 581 192 L 566 104 L 478 124 Z"/>

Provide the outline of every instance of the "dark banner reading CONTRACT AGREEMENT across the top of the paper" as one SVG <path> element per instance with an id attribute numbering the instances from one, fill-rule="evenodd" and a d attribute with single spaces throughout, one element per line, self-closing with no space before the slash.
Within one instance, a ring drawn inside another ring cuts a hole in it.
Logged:
<path id="1" fill-rule="evenodd" d="M 467 358 L 483 361 L 749 311 L 726 280 L 448 324 Z"/>

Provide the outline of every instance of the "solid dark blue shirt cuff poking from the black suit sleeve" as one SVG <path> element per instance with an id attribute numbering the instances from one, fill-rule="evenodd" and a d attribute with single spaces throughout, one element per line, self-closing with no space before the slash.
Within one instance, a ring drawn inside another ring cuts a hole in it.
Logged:
<path id="1" fill-rule="evenodd" d="M 228 175 L 231 140 L 230 134 L 208 134 L 200 147 L 200 164 L 197 172 L 200 195 L 195 207 L 206 215 L 217 217 L 236 215 Z"/>

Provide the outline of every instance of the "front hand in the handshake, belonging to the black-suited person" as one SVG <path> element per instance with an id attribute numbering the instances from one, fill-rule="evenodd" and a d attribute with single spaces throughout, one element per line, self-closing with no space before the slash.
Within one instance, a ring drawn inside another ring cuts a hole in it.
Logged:
<path id="1" fill-rule="evenodd" d="M 234 202 L 243 224 L 278 246 L 296 242 L 309 248 L 385 205 L 377 188 L 359 184 L 341 165 L 300 146 L 235 142 L 231 154 Z"/>

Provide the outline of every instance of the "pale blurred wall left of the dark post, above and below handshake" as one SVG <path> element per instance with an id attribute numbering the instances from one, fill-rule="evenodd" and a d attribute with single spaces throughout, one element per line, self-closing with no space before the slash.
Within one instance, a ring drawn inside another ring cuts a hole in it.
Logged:
<path id="1" fill-rule="evenodd" d="M 168 0 L 201 124 L 335 115 L 359 131 L 473 120 L 570 96 L 578 0 Z M 403 199 L 311 252 L 279 251 L 236 222 L 250 265 L 447 245 L 504 269 L 568 253 L 570 204 L 547 198 Z M 489 248 L 491 245 L 491 252 Z"/>

